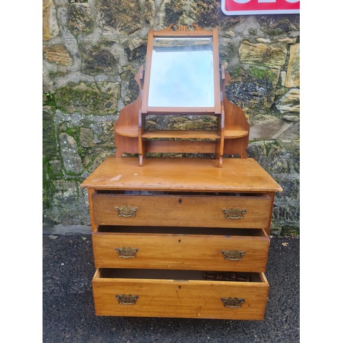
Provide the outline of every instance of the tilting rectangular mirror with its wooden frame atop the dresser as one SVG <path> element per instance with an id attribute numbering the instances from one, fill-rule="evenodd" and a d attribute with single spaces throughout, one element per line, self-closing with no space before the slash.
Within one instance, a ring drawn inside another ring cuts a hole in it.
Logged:
<path id="1" fill-rule="evenodd" d="M 217 36 L 213 31 L 170 30 L 148 36 L 142 108 L 145 113 L 220 111 Z"/>

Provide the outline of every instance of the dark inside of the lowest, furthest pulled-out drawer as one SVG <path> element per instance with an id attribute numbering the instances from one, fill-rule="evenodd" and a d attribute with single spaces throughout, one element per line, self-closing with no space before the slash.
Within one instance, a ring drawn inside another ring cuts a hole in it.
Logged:
<path id="1" fill-rule="evenodd" d="M 209 272 L 201 270 L 161 270 L 161 269 L 126 269 L 98 268 L 96 279 L 167 279 L 198 281 L 239 281 L 263 283 L 263 276 L 256 272 Z"/>

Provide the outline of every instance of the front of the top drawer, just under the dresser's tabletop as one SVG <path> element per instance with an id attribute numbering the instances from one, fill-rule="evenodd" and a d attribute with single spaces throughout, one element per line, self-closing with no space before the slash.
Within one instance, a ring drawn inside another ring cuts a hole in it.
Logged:
<path id="1" fill-rule="evenodd" d="M 268 196 L 113 196 L 94 193 L 95 225 L 268 228 Z"/>

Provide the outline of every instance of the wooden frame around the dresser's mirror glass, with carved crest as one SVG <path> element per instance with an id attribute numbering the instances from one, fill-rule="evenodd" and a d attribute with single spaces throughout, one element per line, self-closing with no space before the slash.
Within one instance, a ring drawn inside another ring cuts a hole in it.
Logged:
<path id="1" fill-rule="evenodd" d="M 143 86 L 143 99 L 141 111 L 146 114 L 220 114 L 221 113 L 221 102 L 220 102 L 220 65 L 219 65 L 219 49 L 218 49 L 218 30 L 216 28 L 212 30 L 201 29 L 197 25 L 193 24 L 194 30 L 189 31 L 187 26 L 178 27 L 177 31 L 171 29 L 174 24 L 169 25 L 167 29 L 161 29 L 154 31 L 149 29 L 147 34 L 147 56 L 145 64 L 145 77 Z M 150 89 L 150 75 L 152 69 L 152 49 L 154 43 L 154 37 L 212 37 L 213 43 L 213 82 L 214 82 L 214 106 L 213 107 L 155 107 L 148 106 L 148 97 Z"/>

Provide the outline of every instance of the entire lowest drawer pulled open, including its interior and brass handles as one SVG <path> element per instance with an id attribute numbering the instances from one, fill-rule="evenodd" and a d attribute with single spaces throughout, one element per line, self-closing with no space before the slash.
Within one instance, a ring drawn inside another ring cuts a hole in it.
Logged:
<path id="1" fill-rule="evenodd" d="M 269 292 L 263 273 L 198 270 L 98 268 L 92 285 L 97 316 L 263 320 Z"/>

